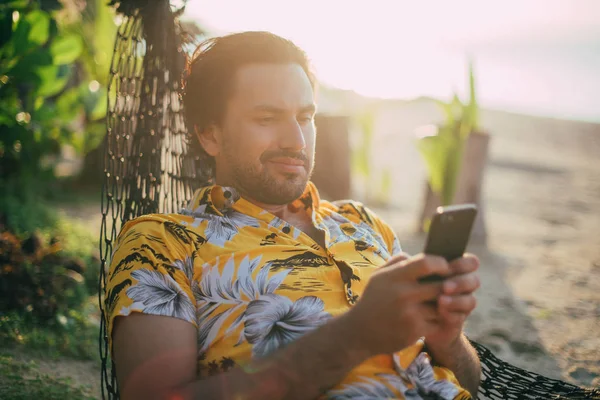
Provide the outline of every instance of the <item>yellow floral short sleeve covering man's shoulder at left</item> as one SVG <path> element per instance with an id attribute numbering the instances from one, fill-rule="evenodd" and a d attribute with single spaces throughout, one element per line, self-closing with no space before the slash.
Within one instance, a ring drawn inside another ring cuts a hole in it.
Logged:
<path id="1" fill-rule="evenodd" d="M 134 312 L 196 326 L 192 282 L 202 261 L 183 220 L 177 214 L 149 214 L 123 225 L 104 287 L 109 341 L 115 318 Z"/>

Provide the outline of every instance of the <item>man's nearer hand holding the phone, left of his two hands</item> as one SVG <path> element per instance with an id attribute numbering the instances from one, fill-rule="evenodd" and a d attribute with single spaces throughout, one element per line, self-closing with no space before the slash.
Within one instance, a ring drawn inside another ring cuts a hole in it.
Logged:
<path id="1" fill-rule="evenodd" d="M 394 257 L 371 277 L 354 308 L 348 329 L 371 355 L 392 353 L 439 331 L 436 301 L 444 282 L 420 282 L 429 275 L 450 276 L 441 257 Z"/>

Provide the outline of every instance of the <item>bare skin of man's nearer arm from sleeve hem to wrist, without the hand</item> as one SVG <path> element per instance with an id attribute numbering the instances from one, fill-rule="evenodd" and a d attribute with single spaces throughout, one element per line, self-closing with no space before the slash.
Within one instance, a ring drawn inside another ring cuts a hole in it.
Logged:
<path id="1" fill-rule="evenodd" d="M 155 315 L 119 317 L 113 338 L 121 395 L 125 400 L 312 399 L 369 357 L 353 334 L 358 331 L 354 325 L 347 316 L 334 318 L 244 369 L 196 380 L 192 324 Z"/>

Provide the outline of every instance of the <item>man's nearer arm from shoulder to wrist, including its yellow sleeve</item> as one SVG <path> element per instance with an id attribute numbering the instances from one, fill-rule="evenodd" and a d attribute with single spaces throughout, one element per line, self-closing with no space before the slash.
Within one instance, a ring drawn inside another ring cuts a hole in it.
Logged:
<path id="1" fill-rule="evenodd" d="M 314 398 L 372 354 L 354 336 L 360 324 L 343 316 L 244 370 L 199 381 L 190 276 L 201 260 L 189 259 L 192 240 L 174 222 L 157 215 L 130 221 L 113 255 L 105 298 L 124 399 Z"/>

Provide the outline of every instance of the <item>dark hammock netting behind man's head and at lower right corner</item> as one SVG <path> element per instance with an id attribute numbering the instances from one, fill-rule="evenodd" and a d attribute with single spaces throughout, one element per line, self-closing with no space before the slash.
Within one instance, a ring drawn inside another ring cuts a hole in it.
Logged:
<path id="1" fill-rule="evenodd" d="M 103 399 L 119 398 L 103 296 L 121 226 L 144 214 L 177 212 L 194 189 L 207 182 L 201 160 L 188 151 L 190 138 L 180 96 L 185 46 L 193 42 L 178 21 L 182 10 L 168 0 L 117 3 L 121 22 L 108 88 L 99 244 Z M 600 399 L 600 388 L 546 378 L 498 359 L 479 343 L 472 344 L 482 363 L 480 399 Z"/>

